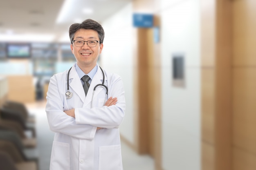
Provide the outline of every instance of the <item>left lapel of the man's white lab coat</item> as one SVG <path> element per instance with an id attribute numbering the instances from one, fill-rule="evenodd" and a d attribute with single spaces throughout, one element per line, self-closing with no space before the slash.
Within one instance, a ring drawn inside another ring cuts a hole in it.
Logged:
<path id="1" fill-rule="evenodd" d="M 70 70 L 69 81 L 70 88 L 72 88 L 72 90 L 80 97 L 82 101 L 85 101 L 83 86 L 74 66 Z"/>

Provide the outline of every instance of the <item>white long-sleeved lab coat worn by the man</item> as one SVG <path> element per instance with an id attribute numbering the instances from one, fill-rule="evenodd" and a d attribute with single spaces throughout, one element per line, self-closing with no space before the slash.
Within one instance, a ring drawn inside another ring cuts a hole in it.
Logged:
<path id="1" fill-rule="evenodd" d="M 125 113 L 124 86 L 120 76 L 104 72 L 108 98 L 118 100 L 109 107 L 103 106 L 106 92 L 99 86 L 91 108 L 93 88 L 103 80 L 98 65 L 86 97 L 74 66 L 69 75 L 72 98 L 65 96 L 67 71 L 50 79 L 46 113 L 49 127 L 55 132 L 50 170 L 123 170 L 119 126 Z M 63 112 L 72 108 L 76 118 Z"/>

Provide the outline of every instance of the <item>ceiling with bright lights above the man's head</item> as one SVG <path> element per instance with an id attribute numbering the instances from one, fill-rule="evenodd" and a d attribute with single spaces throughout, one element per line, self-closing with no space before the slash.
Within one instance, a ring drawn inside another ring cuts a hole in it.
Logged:
<path id="1" fill-rule="evenodd" d="M 0 41 L 68 42 L 70 24 L 87 18 L 101 23 L 131 1 L 0 0 Z"/>

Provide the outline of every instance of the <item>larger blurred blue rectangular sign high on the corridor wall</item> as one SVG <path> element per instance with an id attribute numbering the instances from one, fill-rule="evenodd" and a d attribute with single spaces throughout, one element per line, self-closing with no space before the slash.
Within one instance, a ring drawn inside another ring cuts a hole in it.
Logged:
<path id="1" fill-rule="evenodd" d="M 144 28 L 153 27 L 153 15 L 143 14 L 143 13 L 134 13 L 133 26 L 144 27 Z"/>

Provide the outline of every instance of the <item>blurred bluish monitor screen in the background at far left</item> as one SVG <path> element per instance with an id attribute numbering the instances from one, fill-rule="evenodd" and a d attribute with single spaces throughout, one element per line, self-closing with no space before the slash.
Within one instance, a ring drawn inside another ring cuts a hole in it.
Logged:
<path id="1" fill-rule="evenodd" d="M 7 44 L 7 57 L 9 58 L 29 58 L 30 55 L 30 44 Z"/>

